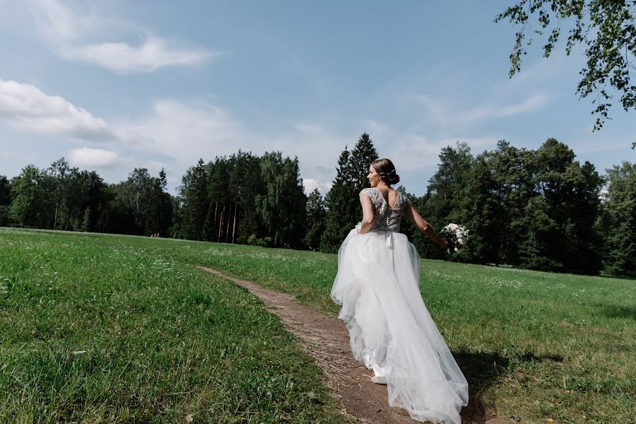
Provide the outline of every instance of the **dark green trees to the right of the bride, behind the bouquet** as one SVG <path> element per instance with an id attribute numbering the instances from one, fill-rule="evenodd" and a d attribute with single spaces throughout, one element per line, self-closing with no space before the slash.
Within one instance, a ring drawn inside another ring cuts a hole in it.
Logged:
<path id="1" fill-rule="evenodd" d="M 536 150 L 500 141 L 479 155 L 458 143 L 442 149 L 416 203 L 435 225 L 470 228 L 469 247 L 457 260 L 634 277 L 635 171 L 625 162 L 601 176 L 555 139 Z M 420 249 L 435 254 L 429 245 Z"/>

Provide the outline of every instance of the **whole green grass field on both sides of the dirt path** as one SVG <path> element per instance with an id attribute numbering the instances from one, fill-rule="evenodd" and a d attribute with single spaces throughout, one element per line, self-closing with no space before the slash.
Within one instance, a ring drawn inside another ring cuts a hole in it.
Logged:
<path id="1" fill-rule="evenodd" d="M 194 265 L 337 312 L 335 255 L 0 229 L 0 421 L 346 422 L 276 317 Z M 422 270 L 433 319 L 500 416 L 636 422 L 635 281 Z"/>

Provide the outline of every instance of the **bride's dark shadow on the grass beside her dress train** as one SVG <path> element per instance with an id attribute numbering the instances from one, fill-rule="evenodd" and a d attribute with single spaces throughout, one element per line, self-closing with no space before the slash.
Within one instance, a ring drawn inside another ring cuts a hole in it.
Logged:
<path id="1" fill-rule="evenodd" d="M 497 352 L 459 352 L 454 353 L 453 356 L 469 384 L 469 404 L 461 409 L 462 420 L 480 424 L 493 417 L 493 411 L 483 404 L 483 393 L 499 379 L 512 372 L 514 367 L 526 362 L 563 361 L 563 356 L 560 355 L 538 356 L 534 353 L 524 353 L 515 357 L 514 360 Z"/>

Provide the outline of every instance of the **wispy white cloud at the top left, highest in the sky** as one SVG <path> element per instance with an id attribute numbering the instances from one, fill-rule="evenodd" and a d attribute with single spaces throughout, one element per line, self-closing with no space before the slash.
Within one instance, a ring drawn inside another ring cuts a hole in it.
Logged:
<path id="1" fill-rule="evenodd" d="M 194 66 L 218 55 L 206 49 L 177 46 L 163 37 L 149 35 L 145 30 L 141 30 L 144 38 L 141 45 L 112 41 L 113 37 L 124 37 L 124 32 L 129 33 L 136 25 L 110 18 L 100 11 L 74 11 L 57 0 L 30 0 L 29 6 L 35 27 L 59 56 L 117 73 L 146 73 L 175 65 Z M 139 31 L 136 28 L 135 37 L 139 37 Z M 109 41 L 98 41 L 103 40 L 105 34 Z"/>

